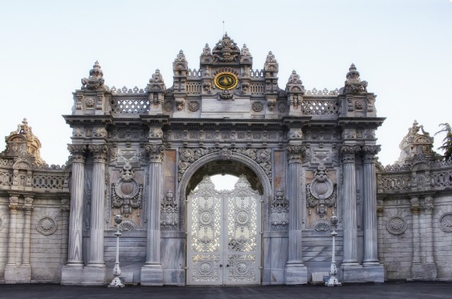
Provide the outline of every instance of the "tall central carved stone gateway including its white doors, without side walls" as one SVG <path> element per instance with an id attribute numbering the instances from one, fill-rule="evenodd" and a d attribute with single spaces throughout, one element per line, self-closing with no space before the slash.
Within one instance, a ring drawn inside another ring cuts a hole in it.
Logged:
<path id="1" fill-rule="evenodd" d="M 198 70 L 180 51 L 173 71 L 169 88 L 157 70 L 145 90 L 117 89 L 96 62 L 73 93 L 61 283 L 111 279 L 114 214 L 124 217 L 126 282 L 307 283 L 328 272 L 333 213 L 341 279 L 383 281 L 374 160 L 383 118 L 355 66 L 341 90 L 307 92 L 295 71 L 281 89 L 271 52 L 254 70 L 246 45 L 225 35 L 206 44 Z M 205 176 L 217 173 L 242 175 L 236 190 L 210 188 Z"/>

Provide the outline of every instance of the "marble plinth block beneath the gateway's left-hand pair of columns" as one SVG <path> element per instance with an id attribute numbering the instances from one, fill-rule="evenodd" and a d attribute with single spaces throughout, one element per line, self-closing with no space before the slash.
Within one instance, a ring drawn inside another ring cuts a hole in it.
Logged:
<path id="1" fill-rule="evenodd" d="M 66 286 L 103 286 L 107 279 L 105 267 L 63 266 L 61 284 Z"/>

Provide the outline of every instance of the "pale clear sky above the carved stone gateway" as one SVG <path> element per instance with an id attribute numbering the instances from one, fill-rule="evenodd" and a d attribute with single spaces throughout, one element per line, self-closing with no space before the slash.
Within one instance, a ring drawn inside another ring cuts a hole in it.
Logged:
<path id="1" fill-rule="evenodd" d="M 0 1 L 0 136 L 24 117 L 48 164 L 64 164 L 71 92 L 95 60 L 109 87 L 144 88 L 160 68 L 172 85 L 172 61 L 183 49 L 199 67 L 225 30 L 263 68 L 278 60 L 279 84 L 296 70 L 307 90 L 343 87 L 355 63 L 378 95 L 380 161 L 398 159 L 412 122 L 433 135 L 452 123 L 451 0 L 379 1 Z M 435 138 L 435 148 L 444 136 Z M 0 151 L 4 145 L 0 145 Z"/>

